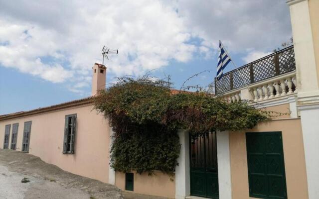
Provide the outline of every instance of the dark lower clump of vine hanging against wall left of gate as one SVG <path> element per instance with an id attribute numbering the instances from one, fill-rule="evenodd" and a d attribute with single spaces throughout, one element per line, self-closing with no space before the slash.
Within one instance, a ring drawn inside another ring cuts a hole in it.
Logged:
<path id="1" fill-rule="evenodd" d="M 111 148 L 111 166 L 122 172 L 135 170 L 139 174 L 151 174 L 159 170 L 171 174 L 180 150 L 177 133 L 167 131 L 162 125 L 154 124 L 152 127 L 149 124 L 144 127 L 115 137 Z"/>

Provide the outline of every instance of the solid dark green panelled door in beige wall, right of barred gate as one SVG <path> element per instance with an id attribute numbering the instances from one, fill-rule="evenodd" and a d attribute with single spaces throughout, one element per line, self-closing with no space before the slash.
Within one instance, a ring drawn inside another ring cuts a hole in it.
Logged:
<path id="1" fill-rule="evenodd" d="M 246 133 L 250 197 L 287 199 L 281 132 Z"/>

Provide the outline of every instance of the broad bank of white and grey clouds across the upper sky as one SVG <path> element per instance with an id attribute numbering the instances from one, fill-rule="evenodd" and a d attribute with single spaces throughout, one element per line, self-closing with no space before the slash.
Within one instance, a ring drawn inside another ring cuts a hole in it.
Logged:
<path id="1" fill-rule="evenodd" d="M 0 1 L 0 65 L 72 82 L 77 93 L 90 84 L 103 45 L 119 49 L 106 62 L 108 73 L 141 75 L 170 60 L 188 62 L 194 52 L 211 57 L 219 39 L 234 52 L 254 48 L 258 54 L 290 34 L 281 1 Z"/>

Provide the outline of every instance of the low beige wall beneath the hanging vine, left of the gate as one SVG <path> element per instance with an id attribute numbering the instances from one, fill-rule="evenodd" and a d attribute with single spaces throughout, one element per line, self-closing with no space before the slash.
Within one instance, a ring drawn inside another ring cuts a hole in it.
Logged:
<path id="1" fill-rule="evenodd" d="M 115 186 L 125 190 L 125 173 L 116 172 Z M 134 193 L 175 198 L 175 181 L 162 172 L 152 176 L 134 173 Z"/>

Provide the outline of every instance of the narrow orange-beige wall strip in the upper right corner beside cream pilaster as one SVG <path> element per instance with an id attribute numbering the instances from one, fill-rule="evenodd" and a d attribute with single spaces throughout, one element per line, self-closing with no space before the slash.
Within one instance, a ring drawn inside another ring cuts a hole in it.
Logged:
<path id="1" fill-rule="evenodd" d="M 314 40 L 314 51 L 317 68 L 317 77 L 319 77 L 319 0 L 309 0 L 310 23 Z M 319 79 L 318 79 L 319 85 Z"/>

